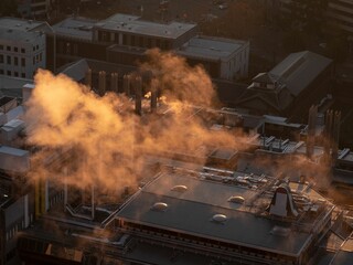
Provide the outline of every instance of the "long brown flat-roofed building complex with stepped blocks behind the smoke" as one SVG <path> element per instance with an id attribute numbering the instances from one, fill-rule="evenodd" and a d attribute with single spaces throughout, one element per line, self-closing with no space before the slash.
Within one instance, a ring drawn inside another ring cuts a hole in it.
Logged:
<path id="1" fill-rule="evenodd" d="M 184 56 L 191 65 L 202 64 L 213 78 L 235 81 L 247 77 L 249 42 L 200 35 L 196 24 L 145 21 L 129 14 L 106 20 L 67 18 L 49 35 L 49 51 L 56 51 L 56 66 L 81 59 L 136 66 L 148 49 L 158 47 Z M 49 54 L 50 65 L 54 55 Z"/>

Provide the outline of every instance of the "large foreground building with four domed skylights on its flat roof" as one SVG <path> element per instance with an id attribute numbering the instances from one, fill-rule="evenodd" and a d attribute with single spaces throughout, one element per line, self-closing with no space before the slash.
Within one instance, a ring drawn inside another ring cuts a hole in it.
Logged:
<path id="1" fill-rule="evenodd" d="M 20 255 L 29 264 L 307 264 L 330 229 L 334 206 L 306 183 L 189 173 L 156 176 L 105 221 L 44 215 L 56 231 L 28 231 Z M 99 226 L 110 236 L 94 234 Z"/>

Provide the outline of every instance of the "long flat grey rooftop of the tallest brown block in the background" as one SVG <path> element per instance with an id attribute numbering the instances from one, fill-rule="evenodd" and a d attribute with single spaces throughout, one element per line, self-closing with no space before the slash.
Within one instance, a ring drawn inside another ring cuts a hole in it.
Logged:
<path id="1" fill-rule="evenodd" d="M 141 20 L 140 17 L 118 13 L 106 20 L 99 21 L 95 26 L 109 31 L 176 39 L 197 25 L 180 22 L 158 23 Z"/>

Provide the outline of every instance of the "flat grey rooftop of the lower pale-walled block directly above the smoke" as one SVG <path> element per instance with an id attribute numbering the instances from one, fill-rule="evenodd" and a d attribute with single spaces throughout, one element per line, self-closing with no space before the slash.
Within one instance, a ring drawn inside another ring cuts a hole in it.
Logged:
<path id="1" fill-rule="evenodd" d="M 245 41 L 211 36 L 194 36 L 185 43 L 178 53 L 192 57 L 226 60 L 245 44 Z"/>

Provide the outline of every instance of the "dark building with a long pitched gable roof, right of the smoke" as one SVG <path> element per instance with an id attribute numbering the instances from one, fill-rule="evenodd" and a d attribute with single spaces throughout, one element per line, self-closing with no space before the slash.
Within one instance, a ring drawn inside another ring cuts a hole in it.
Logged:
<path id="1" fill-rule="evenodd" d="M 235 105 L 256 115 L 275 115 L 303 123 L 311 105 L 332 93 L 332 60 L 303 51 L 289 54 L 253 84 Z"/>

